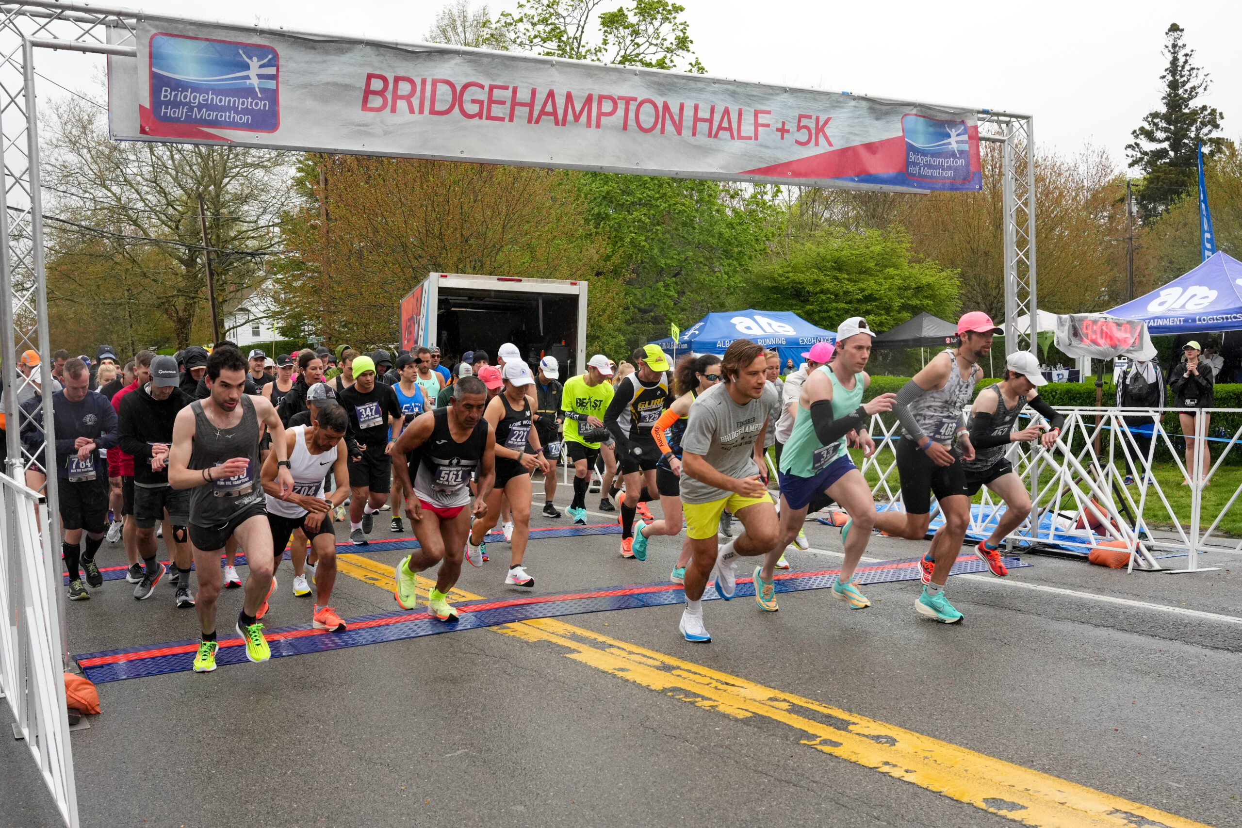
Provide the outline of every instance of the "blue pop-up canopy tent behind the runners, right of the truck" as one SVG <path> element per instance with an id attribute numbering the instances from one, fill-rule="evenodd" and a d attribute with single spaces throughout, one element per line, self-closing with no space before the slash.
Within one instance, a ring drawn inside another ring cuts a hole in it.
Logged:
<path id="1" fill-rule="evenodd" d="M 792 310 L 733 310 L 709 313 L 682 331 L 676 343 L 672 336 L 657 339 L 660 345 L 673 356 L 682 354 L 724 354 L 725 349 L 738 339 L 749 339 L 764 348 L 775 349 L 780 354 L 781 370 L 785 360 L 794 365 L 802 362 L 802 353 L 815 343 L 835 343 L 835 330 L 825 330 L 799 317 Z"/>

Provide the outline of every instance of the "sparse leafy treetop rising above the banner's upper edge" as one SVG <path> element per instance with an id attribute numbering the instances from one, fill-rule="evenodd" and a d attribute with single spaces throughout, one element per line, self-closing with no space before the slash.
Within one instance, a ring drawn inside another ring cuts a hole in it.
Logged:
<path id="1" fill-rule="evenodd" d="M 688 61 L 687 71 L 705 71 L 691 51 L 689 24 L 681 17 L 684 6 L 628 0 L 595 15 L 602 2 L 519 0 L 517 14 L 501 12 L 498 27 L 515 48 L 549 57 L 656 70 L 676 70 L 679 61 Z"/>

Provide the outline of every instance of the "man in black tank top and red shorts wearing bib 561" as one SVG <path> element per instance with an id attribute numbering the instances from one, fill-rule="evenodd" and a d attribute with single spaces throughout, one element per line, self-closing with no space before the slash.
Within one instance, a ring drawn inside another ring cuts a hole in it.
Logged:
<path id="1" fill-rule="evenodd" d="M 417 605 L 416 574 L 443 561 L 427 600 L 427 610 L 441 621 L 457 619 L 447 595 L 462 571 L 471 515 L 487 515 L 496 482 L 496 434 L 483 418 L 487 386 L 478 377 L 463 376 L 452 389 L 450 405 L 415 417 L 392 449 L 397 458 L 415 452 L 409 464 L 397 462 L 392 468 L 419 539 L 419 549 L 397 564 L 394 597 L 412 610 Z M 478 497 L 467 511 L 471 472 L 478 474 Z M 479 562 L 471 561 L 474 566 Z"/>

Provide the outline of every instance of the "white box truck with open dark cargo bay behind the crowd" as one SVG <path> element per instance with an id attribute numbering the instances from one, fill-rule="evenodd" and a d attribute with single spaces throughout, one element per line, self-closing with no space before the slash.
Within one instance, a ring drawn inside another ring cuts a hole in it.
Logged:
<path id="1" fill-rule="evenodd" d="M 532 370 L 560 362 L 561 381 L 586 366 L 586 282 L 431 273 L 401 299 L 401 348 L 461 358 L 513 343 Z"/>

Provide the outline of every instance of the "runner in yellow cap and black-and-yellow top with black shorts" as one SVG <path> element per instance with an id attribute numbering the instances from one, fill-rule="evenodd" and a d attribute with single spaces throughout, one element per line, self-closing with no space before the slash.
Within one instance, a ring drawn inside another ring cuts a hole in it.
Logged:
<path id="1" fill-rule="evenodd" d="M 632 354 L 638 369 L 617 382 L 612 402 L 604 415 L 604 425 L 616 438 L 617 462 L 625 483 L 621 502 L 621 557 L 635 557 L 633 516 L 641 509 L 642 519 L 655 519 L 645 505 L 656 490 L 656 463 L 660 448 L 651 436 L 651 427 L 672 401 L 672 377 L 668 356 L 660 345 L 645 345 Z"/>

